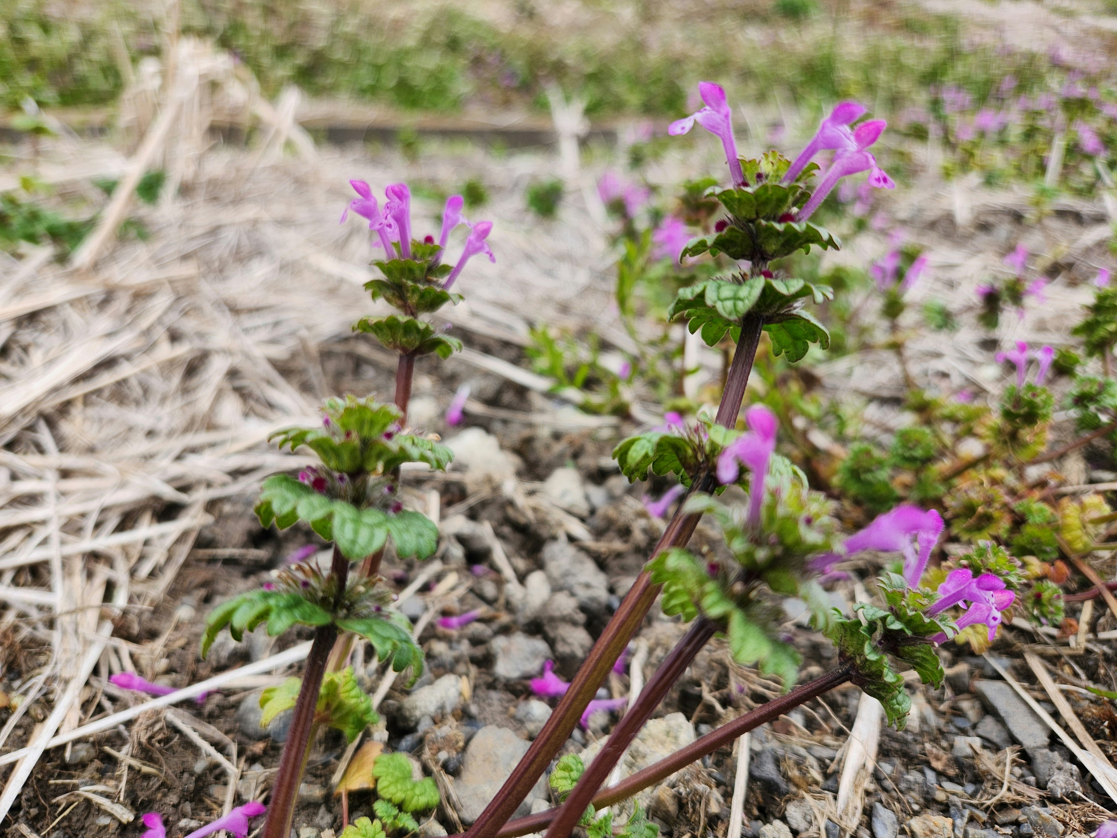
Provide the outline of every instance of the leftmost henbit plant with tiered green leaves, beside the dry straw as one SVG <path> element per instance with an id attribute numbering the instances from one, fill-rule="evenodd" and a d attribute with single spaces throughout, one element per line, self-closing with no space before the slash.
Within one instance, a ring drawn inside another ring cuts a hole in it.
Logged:
<path id="1" fill-rule="evenodd" d="M 383 279 L 373 279 L 365 287 L 373 299 L 383 298 L 400 312 L 386 317 L 365 317 L 354 331 L 371 333 L 399 353 L 395 404 L 353 396 L 327 399 L 321 427 L 288 428 L 273 435 L 280 448 L 312 450 L 319 465 L 304 468 L 297 478 L 275 475 L 266 479 L 256 513 L 264 526 L 275 523 L 285 530 L 302 521 L 332 541 L 330 571 L 324 573 L 309 556 L 303 555 L 300 561 L 277 571 L 275 580 L 261 589 L 214 608 L 207 619 L 201 644 L 204 657 L 226 627 L 237 640 L 260 625 L 266 625 L 271 636 L 296 623 L 314 628 L 303 677 L 288 678 L 260 697 L 261 724 L 294 707 L 271 790 L 265 838 L 288 838 L 315 730 L 321 725 L 335 727 L 353 741 L 379 720 L 372 699 L 359 686 L 353 670 L 345 666 L 353 638 L 362 637 L 372 644 L 376 657 L 391 661 L 393 670 L 410 669 L 412 682 L 422 672 L 422 650 L 411 636 L 411 622 L 392 610 L 394 594 L 380 575 L 381 559 L 389 543 L 401 559 L 426 559 L 438 546 L 438 526 L 421 513 L 404 510 L 399 499 L 401 467 L 419 463 L 445 469 L 452 459 L 450 450 L 439 445 L 437 437 L 409 432 L 407 427 L 416 358 L 429 353 L 447 358 L 460 349 L 458 341 L 419 320 L 419 315 L 460 301 L 460 295 L 449 288 L 472 256 L 484 253 L 493 258 L 485 241 L 493 225 L 480 221 L 470 225 L 457 264 L 452 268 L 442 264 L 450 232 L 459 223 L 468 223 L 461 216 L 460 196 L 447 200 L 436 244 L 432 236 L 412 239 L 411 197 L 405 184 L 388 188 L 388 201 L 380 211 L 367 183 L 356 180 L 351 183 L 360 198 L 342 213 L 342 221 L 351 210 L 367 219 L 369 229 L 378 232 L 385 254 L 384 259 L 375 263 Z M 351 562 L 361 562 L 354 574 L 350 573 Z M 378 760 L 373 773 L 379 778 L 380 797 L 407 812 L 433 808 L 438 803 L 433 783 L 428 779 L 413 784 L 410 771 L 405 758 L 402 765 L 398 759 Z M 391 822 L 400 820 L 398 817 L 393 820 L 386 809 L 383 817 Z M 383 832 L 388 821 L 374 821 L 369 829 Z M 357 832 L 363 835 L 361 829 Z"/>

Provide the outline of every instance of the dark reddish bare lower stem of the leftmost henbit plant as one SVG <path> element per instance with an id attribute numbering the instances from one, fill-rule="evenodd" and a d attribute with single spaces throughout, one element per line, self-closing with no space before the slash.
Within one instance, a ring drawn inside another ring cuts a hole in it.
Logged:
<path id="1" fill-rule="evenodd" d="M 345 593 L 345 582 L 349 579 L 349 560 L 334 545 L 334 558 L 330 572 L 337 580 L 337 593 L 334 596 L 334 607 L 341 604 Z M 268 807 L 268 820 L 264 825 L 262 838 L 290 838 L 290 821 L 295 816 L 295 802 L 298 800 L 298 785 L 306 768 L 306 756 L 311 749 L 311 733 L 314 729 L 314 715 L 318 706 L 318 693 L 322 679 L 326 674 L 330 651 L 337 639 L 337 627 L 332 622 L 318 626 L 314 630 L 314 642 L 306 657 L 306 669 L 303 672 L 303 686 L 298 691 L 295 712 L 290 718 L 290 731 L 279 758 L 279 769 L 275 783 L 271 785 L 271 801 Z"/>

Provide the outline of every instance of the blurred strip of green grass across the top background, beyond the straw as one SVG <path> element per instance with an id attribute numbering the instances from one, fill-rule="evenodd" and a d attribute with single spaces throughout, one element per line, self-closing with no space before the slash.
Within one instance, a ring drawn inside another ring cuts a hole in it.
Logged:
<path id="1" fill-rule="evenodd" d="M 726 6 L 584 0 L 566 28 L 542 0 L 508 0 L 499 23 L 479 3 L 416 10 L 371 0 L 182 0 L 183 32 L 229 48 L 266 94 L 294 83 L 403 109 L 466 104 L 545 108 L 556 80 L 592 114 L 684 113 L 699 78 L 739 99 L 813 106 L 842 97 L 878 113 L 922 104 L 932 85 L 983 101 L 1008 73 L 1021 89 L 1047 59 L 966 44 L 955 18 L 914 4 L 752 0 Z M 66 17 L 60 17 L 64 10 Z M 162 20 L 127 0 L 0 3 L 0 106 L 111 102 L 122 80 L 114 27 L 132 60 L 157 54 Z"/>

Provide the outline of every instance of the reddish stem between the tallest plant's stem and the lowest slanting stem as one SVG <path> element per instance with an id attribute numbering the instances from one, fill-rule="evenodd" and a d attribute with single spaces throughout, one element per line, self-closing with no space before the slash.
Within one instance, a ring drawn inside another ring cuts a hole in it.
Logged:
<path id="1" fill-rule="evenodd" d="M 560 807 L 558 815 L 552 821 L 545 838 L 567 836 L 573 831 L 574 827 L 577 826 L 577 821 L 581 820 L 585 807 L 590 803 L 598 789 L 601 788 L 601 784 L 609 778 L 609 772 L 613 770 L 613 765 L 624 755 L 624 751 L 631 744 L 632 740 L 636 739 L 640 729 L 643 727 L 643 723 L 651 717 L 651 714 L 670 692 L 675 682 L 687 670 L 695 656 L 701 651 L 701 648 L 714 636 L 715 631 L 717 631 L 717 625 L 705 617 L 700 616 L 691 623 L 687 634 L 676 644 L 675 648 L 663 659 L 663 663 L 659 665 L 656 674 L 651 676 L 651 680 L 640 691 L 636 703 L 629 707 L 628 713 L 624 714 L 624 717 L 613 729 L 613 732 L 609 734 L 609 739 L 605 740 L 605 744 L 598 755 L 593 758 L 593 762 L 586 766 L 585 772 L 577 781 L 577 785 L 574 787 L 565 802 Z"/>

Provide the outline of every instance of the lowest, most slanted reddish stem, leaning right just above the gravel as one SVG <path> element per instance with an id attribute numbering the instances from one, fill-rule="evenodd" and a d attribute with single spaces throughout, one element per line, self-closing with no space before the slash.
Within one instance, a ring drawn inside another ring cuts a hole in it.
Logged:
<path id="1" fill-rule="evenodd" d="M 728 724 L 722 725 L 716 731 L 710 731 L 701 739 L 695 740 L 686 747 L 672 753 L 670 756 L 666 756 L 642 771 L 637 771 L 634 774 L 630 774 L 619 783 L 599 791 L 593 798 L 593 806 L 598 809 L 607 806 L 613 806 L 626 798 L 632 797 L 637 792 L 655 785 L 661 780 L 666 780 L 676 771 L 686 768 L 691 762 L 700 760 L 706 754 L 714 753 L 714 751 L 719 747 L 732 744 L 734 740 L 743 733 L 748 733 L 748 731 L 760 727 L 765 722 L 779 718 L 794 707 L 798 707 L 800 704 L 805 704 L 811 698 L 817 698 L 823 693 L 844 684 L 849 680 L 852 672 L 853 669 L 850 664 L 843 664 L 837 669 L 833 669 L 814 680 L 810 680 L 806 684 L 795 687 L 786 695 L 782 695 L 779 698 L 762 704 L 755 710 L 751 710 L 742 716 L 737 716 Z M 509 821 L 497 834 L 497 838 L 516 838 L 516 836 L 538 832 L 543 829 L 543 827 L 550 823 L 560 811 L 561 809 L 558 808 L 547 809 L 546 811 L 537 812 L 526 818 L 517 818 L 516 820 Z M 455 836 L 452 838 L 457 837 Z"/>

